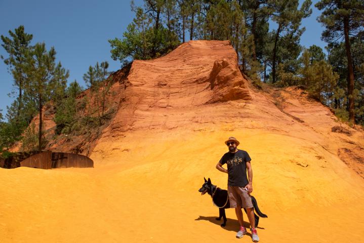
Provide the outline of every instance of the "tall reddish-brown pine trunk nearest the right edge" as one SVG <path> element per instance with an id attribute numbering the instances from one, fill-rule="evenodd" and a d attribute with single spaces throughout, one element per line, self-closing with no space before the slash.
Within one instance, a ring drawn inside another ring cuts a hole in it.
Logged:
<path id="1" fill-rule="evenodd" d="M 350 51 L 350 40 L 349 40 L 349 18 L 344 17 L 344 33 L 345 33 L 345 49 L 346 49 L 346 58 L 348 60 L 348 77 L 347 77 L 347 85 L 348 85 L 348 111 L 349 111 L 349 120 L 352 124 L 355 124 L 355 114 L 354 114 L 354 70 L 353 70 L 353 62 Z"/>

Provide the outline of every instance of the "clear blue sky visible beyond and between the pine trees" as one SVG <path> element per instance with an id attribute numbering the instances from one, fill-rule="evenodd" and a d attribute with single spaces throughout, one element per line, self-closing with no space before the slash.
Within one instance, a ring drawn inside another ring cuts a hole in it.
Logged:
<path id="1" fill-rule="evenodd" d="M 143 1 L 134 2 L 141 5 Z M 320 40 L 322 27 L 316 21 L 320 13 L 313 6 L 316 2 L 311 6 L 312 15 L 302 22 L 306 31 L 301 45 L 323 48 L 326 45 Z M 120 62 L 110 58 L 107 40 L 121 38 L 133 18 L 129 0 L 0 0 L 0 35 L 9 36 L 9 30 L 14 32 L 24 25 L 25 32 L 33 34 L 33 45 L 45 42 L 48 50 L 55 47 L 57 62 L 61 61 L 70 72 L 68 83 L 76 79 L 84 87 L 83 74 L 97 61 L 108 61 L 110 71 L 120 68 Z M 0 55 L 8 57 L 1 46 Z M 14 87 L 3 60 L 0 60 L 0 82 L 0 110 L 3 110 L 0 112 L 5 115 L 6 106 L 14 100 L 8 96 Z"/>

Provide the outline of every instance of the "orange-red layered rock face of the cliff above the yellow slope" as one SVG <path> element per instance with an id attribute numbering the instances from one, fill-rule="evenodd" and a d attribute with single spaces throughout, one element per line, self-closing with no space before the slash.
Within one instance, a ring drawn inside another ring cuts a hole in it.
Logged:
<path id="1" fill-rule="evenodd" d="M 170 54 L 136 60 L 125 83 L 111 131 L 163 127 L 188 118 L 192 107 L 230 100 L 251 100 L 229 41 L 190 41 Z M 178 115 L 180 114 L 180 115 Z"/>

